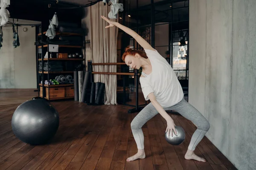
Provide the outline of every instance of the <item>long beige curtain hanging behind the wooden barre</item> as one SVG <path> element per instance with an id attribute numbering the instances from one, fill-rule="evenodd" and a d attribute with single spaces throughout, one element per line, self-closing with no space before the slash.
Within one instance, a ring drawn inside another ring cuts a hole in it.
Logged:
<path id="1" fill-rule="evenodd" d="M 90 11 L 90 46 L 93 63 L 116 62 L 117 51 L 116 41 L 118 28 L 105 28 L 108 23 L 101 18 L 101 15 L 108 17 L 111 11 L 110 6 L 102 2 L 89 7 Z M 116 22 L 118 22 L 116 20 Z M 116 72 L 116 65 L 93 66 L 95 72 Z M 116 75 L 94 74 L 94 82 L 105 83 L 105 105 L 117 105 L 116 103 Z"/>

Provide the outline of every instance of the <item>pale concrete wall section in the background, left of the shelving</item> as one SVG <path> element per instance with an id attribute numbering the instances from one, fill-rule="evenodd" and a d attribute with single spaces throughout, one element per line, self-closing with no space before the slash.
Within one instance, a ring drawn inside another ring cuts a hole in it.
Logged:
<path id="1" fill-rule="evenodd" d="M 23 31 L 24 27 L 28 28 L 26 32 Z M 20 46 L 14 48 L 12 27 L 3 27 L 0 88 L 37 88 L 35 27 L 20 26 L 18 35 Z"/>

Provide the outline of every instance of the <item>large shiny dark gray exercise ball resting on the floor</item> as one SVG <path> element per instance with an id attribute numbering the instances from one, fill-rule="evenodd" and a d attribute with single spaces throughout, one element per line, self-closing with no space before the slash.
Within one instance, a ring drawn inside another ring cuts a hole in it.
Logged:
<path id="1" fill-rule="evenodd" d="M 46 100 L 32 99 L 17 107 L 12 116 L 12 131 L 21 141 L 46 144 L 59 127 L 59 114 Z"/>

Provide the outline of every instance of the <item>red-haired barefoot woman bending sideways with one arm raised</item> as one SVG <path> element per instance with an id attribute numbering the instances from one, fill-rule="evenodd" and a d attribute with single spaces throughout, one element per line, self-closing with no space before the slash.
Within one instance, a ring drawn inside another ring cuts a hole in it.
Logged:
<path id="1" fill-rule="evenodd" d="M 185 101 L 180 82 L 172 67 L 166 59 L 135 31 L 120 23 L 108 20 L 104 16 L 102 16 L 102 19 L 109 23 L 109 26 L 105 28 L 117 26 L 131 35 L 145 50 L 145 53 L 143 53 L 142 51 L 133 50 L 128 47 L 122 55 L 122 59 L 129 67 L 134 69 L 140 69 L 142 67 L 143 70 L 140 77 L 141 88 L 145 100 L 149 99 L 151 101 L 131 122 L 131 130 L 137 144 L 138 152 L 134 156 L 129 157 L 127 161 L 145 158 L 144 135 L 141 127 L 157 113 L 160 113 L 166 120 L 167 135 L 172 136 L 172 131 L 177 134 L 173 119 L 166 113 L 166 110 L 175 110 L 198 127 L 192 135 L 188 150 L 184 156 L 185 159 L 205 162 L 206 160 L 195 155 L 194 151 L 195 147 L 209 130 L 209 122 L 198 110 Z"/>

